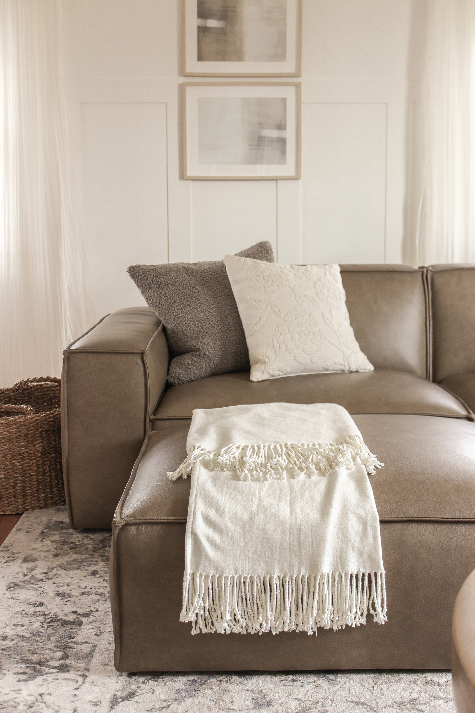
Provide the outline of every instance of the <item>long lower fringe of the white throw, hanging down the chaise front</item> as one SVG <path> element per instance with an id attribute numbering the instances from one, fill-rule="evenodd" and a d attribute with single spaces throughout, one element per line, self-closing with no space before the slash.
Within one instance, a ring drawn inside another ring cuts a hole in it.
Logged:
<path id="1" fill-rule="evenodd" d="M 318 627 L 360 626 L 368 612 L 378 624 L 386 617 L 385 573 L 238 577 L 191 573 L 183 581 L 180 621 L 192 634 L 259 634 Z"/>

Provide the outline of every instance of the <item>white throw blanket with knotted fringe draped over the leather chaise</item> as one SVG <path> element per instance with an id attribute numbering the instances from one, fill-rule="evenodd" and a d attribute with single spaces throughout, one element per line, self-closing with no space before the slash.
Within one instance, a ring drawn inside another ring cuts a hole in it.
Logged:
<path id="1" fill-rule="evenodd" d="M 195 409 L 182 622 L 192 632 L 334 630 L 386 620 L 382 463 L 336 404 Z"/>

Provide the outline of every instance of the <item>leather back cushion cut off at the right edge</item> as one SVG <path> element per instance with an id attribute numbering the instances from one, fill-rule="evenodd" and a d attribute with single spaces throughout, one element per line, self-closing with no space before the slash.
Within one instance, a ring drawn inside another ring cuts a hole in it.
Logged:
<path id="1" fill-rule="evenodd" d="M 475 371 L 475 265 L 429 267 L 434 381 Z"/>

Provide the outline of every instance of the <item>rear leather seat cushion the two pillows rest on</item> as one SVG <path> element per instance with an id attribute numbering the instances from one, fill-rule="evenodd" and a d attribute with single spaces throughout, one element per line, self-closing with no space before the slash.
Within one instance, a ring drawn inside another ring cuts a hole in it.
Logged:
<path id="1" fill-rule="evenodd" d="M 191 419 L 193 409 L 238 404 L 335 403 L 350 414 L 431 414 L 471 418 L 464 404 L 438 384 L 390 369 L 353 374 L 301 374 L 253 382 L 249 372 L 220 374 L 172 386 L 152 416 L 152 430 L 173 419 Z"/>

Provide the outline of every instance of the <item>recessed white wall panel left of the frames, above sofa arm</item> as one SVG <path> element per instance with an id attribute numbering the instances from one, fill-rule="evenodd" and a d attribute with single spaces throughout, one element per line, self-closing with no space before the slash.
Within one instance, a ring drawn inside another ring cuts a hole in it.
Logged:
<path id="1" fill-rule="evenodd" d="M 167 106 L 82 103 L 85 250 L 98 317 L 145 304 L 127 267 L 168 259 Z"/>

